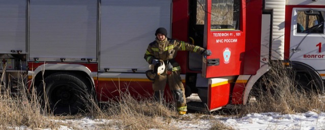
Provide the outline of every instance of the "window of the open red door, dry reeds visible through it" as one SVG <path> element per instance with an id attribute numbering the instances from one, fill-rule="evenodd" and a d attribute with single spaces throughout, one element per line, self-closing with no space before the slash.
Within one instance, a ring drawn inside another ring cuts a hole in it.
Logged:
<path id="1" fill-rule="evenodd" d="M 238 30 L 240 0 L 212 0 L 211 30 Z"/>

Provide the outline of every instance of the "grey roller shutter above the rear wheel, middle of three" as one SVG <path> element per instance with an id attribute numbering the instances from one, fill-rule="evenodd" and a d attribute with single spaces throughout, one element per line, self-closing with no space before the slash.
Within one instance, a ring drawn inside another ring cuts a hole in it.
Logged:
<path id="1" fill-rule="evenodd" d="M 97 1 L 30 0 L 29 60 L 97 58 Z"/>

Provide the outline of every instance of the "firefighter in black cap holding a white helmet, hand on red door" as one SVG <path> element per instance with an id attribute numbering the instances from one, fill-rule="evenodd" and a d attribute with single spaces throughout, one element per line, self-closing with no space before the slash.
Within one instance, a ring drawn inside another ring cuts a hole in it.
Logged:
<path id="1" fill-rule="evenodd" d="M 187 111 L 185 90 L 180 76 L 181 67 L 175 62 L 177 51 L 191 51 L 201 55 L 210 56 L 212 52 L 201 47 L 190 45 L 187 42 L 170 39 L 167 30 L 160 27 L 156 30 L 156 40 L 149 44 L 144 54 L 144 59 L 152 65 L 160 64 L 162 60 L 166 68 L 162 74 L 156 74 L 153 80 L 154 99 L 162 101 L 166 82 L 168 81 L 179 114 L 184 115 Z"/>

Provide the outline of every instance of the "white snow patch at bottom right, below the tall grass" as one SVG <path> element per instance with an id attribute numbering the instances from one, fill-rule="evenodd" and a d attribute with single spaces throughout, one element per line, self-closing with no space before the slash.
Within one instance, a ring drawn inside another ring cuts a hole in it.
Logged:
<path id="1" fill-rule="evenodd" d="M 325 113 L 252 113 L 238 119 L 221 118 L 235 129 L 325 129 Z"/>

